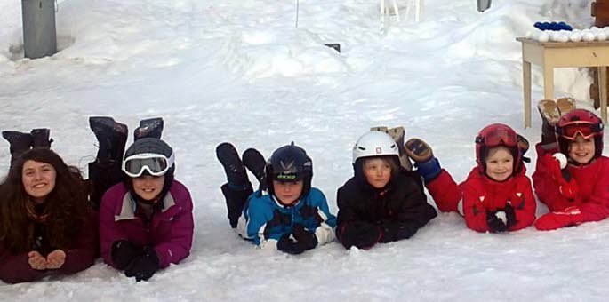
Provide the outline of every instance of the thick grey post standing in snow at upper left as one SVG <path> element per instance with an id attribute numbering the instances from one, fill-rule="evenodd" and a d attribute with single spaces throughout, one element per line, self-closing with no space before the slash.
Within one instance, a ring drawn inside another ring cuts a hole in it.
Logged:
<path id="1" fill-rule="evenodd" d="M 57 52 L 55 0 L 21 0 L 25 57 L 37 59 Z"/>

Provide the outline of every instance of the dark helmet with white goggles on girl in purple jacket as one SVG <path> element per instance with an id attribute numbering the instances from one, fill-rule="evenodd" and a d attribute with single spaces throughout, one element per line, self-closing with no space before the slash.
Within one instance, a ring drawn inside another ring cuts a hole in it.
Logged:
<path id="1" fill-rule="evenodd" d="M 133 177 L 139 177 L 140 175 L 164 175 L 163 189 L 159 195 L 162 200 L 172 187 L 173 174 L 175 172 L 174 156 L 172 147 L 162 139 L 143 138 L 133 142 L 124 153 L 123 160 L 123 171 L 127 176 L 125 184 L 132 195 L 136 196 L 138 200 L 146 202 L 135 194 L 132 183 Z M 141 163 L 132 164 L 136 160 Z M 136 171 L 131 171 L 130 173 L 129 168 L 132 166 Z M 138 176 L 134 176 L 132 173 L 136 173 Z"/>

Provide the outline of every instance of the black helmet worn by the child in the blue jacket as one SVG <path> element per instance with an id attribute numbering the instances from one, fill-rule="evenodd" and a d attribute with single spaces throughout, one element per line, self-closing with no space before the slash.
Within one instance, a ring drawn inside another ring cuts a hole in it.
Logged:
<path id="1" fill-rule="evenodd" d="M 313 162 L 307 152 L 294 145 L 293 141 L 291 145 L 280 147 L 273 152 L 268 159 L 265 171 L 268 193 L 274 194 L 273 180 L 286 182 L 303 180 L 300 197 L 309 194 L 313 178 Z"/>

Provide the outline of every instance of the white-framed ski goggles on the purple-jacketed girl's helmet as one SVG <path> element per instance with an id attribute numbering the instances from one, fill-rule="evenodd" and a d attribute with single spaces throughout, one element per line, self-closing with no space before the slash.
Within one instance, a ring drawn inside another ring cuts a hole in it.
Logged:
<path id="1" fill-rule="evenodd" d="M 131 178 L 140 177 L 144 171 L 152 176 L 162 176 L 172 167 L 174 161 L 173 154 L 169 158 L 151 153 L 132 155 L 124 159 L 123 171 Z"/>

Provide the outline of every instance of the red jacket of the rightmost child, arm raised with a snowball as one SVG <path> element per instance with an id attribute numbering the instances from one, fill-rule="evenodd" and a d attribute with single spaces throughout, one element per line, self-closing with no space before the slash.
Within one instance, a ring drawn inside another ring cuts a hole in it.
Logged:
<path id="1" fill-rule="evenodd" d="M 594 163 L 585 166 L 567 165 L 567 170 L 577 183 L 579 195 L 573 201 L 560 194 L 556 181 L 541 158 L 553 155 L 557 148 L 544 149 L 540 144 L 537 150 L 537 166 L 533 173 L 533 187 L 541 203 L 549 211 L 565 211 L 577 206 L 581 211 L 581 222 L 598 221 L 609 217 L 609 158 L 600 156 Z"/>

